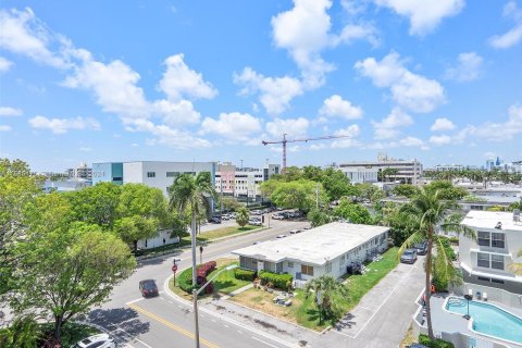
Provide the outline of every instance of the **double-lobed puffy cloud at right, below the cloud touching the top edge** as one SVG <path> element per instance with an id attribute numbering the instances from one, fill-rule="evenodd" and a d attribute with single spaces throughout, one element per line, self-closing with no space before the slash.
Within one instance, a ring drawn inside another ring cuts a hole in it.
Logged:
<path id="1" fill-rule="evenodd" d="M 375 86 L 389 87 L 393 99 L 411 111 L 432 112 L 445 102 L 443 86 L 435 79 L 411 73 L 396 52 L 389 53 L 381 62 L 374 58 L 358 61 L 355 69 L 362 76 L 371 78 Z"/>

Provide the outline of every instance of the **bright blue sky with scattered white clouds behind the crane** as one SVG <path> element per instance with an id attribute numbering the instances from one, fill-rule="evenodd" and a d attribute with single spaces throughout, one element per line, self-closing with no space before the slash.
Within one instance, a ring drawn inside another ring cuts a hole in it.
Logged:
<path id="1" fill-rule="evenodd" d="M 0 157 L 522 160 L 522 1 L 0 2 Z"/>

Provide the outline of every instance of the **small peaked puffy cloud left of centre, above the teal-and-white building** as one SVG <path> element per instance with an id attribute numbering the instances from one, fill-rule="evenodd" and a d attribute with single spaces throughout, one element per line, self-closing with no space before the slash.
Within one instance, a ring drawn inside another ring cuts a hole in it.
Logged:
<path id="1" fill-rule="evenodd" d="M 210 83 L 204 82 L 200 73 L 190 70 L 185 64 L 183 53 L 169 57 L 165 65 L 166 71 L 160 80 L 159 88 L 170 100 L 212 99 L 217 95 L 217 90 Z"/>

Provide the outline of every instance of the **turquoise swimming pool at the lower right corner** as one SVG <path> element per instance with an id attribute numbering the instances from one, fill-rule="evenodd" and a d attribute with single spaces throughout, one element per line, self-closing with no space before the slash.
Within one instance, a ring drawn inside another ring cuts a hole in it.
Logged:
<path id="1" fill-rule="evenodd" d="M 468 313 L 467 301 L 462 298 L 448 298 L 446 309 L 462 315 Z M 522 344 L 522 319 L 496 306 L 476 301 L 470 301 L 470 315 L 473 331 Z"/>

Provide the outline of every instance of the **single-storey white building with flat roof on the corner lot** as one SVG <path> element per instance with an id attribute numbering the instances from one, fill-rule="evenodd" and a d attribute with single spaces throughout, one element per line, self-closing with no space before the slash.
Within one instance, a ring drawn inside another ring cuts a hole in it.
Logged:
<path id="1" fill-rule="evenodd" d="M 387 248 L 389 227 L 334 222 L 287 238 L 234 250 L 241 269 L 288 273 L 297 281 L 324 274 L 335 278 L 353 261 Z"/>

